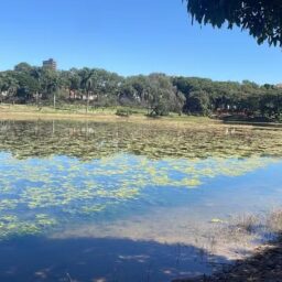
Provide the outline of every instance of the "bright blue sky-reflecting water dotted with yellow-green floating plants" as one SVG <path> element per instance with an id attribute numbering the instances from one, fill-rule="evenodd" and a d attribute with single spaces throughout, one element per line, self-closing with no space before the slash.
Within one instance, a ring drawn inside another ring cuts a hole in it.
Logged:
<path id="1" fill-rule="evenodd" d="M 17 160 L 1 153 L 1 237 L 72 220 L 115 220 L 159 207 L 199 206 L 206 219 L 217 207 L 220 216 L 264 208 L 279 202 L 274 182 L 281 176 L 269 175 L 279 165 L 263 158 L 149 160 L 117 154 L 80 162 L 67 156 Z"/>

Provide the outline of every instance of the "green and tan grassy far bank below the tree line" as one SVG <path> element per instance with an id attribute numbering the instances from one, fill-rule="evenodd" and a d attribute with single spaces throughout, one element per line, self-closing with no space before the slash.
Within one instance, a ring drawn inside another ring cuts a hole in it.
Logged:
<path id="1" fill-rule="evenodd" d="M 118 115 L 119 112 L 126 115 Z M 128 115 L 127 115 L 128 113 Z M 203 116 L 187 116 L 171 112 L 165 117 L 148 117 L 148 109 L 134 107 L 90 107 L 88 112 L 83 105 L 63 104 L 56 108 L 52 106 L 36 107 L 35 105 L 12 105 L 0 104 L 0 119 L 13 120 L 93 120 L 93 121 L 128 121 L 143 122 L 152 121 L 154 123 L 200 123 L 200 124 L 226 124 L 229 126 L 254 126 L 282 128 L 282 123 L 267 122 L 261 120 L 240 120 L 240 119 L 216 119 Z"/>

